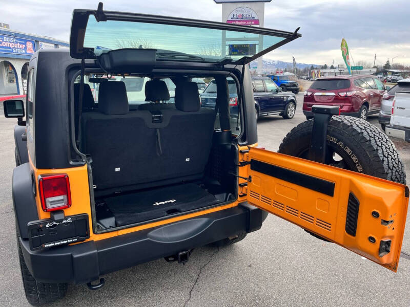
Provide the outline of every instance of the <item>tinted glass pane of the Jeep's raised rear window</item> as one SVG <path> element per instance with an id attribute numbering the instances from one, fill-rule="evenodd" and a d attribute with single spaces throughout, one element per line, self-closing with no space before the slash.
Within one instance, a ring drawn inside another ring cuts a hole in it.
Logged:
<path id="1" fill-rule="evenodd" d="M 256 30 L 255 30 L 256 31 Z M 84 47 L 96 55 L 121 48 L 157 49 L 157 60 L 218 62 L 252 56 L 284 40 L 283 37 L 204 27 L 107 20 L 90 15 Z"/>

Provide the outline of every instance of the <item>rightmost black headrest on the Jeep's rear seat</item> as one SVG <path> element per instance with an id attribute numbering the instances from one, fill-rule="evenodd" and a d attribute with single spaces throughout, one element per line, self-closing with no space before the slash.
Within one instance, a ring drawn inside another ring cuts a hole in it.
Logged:
<path id="1" fill-rule="evenodd" d="M 181 82 L 175 88 L 175 107 L 184 112 L 199 111 L 198 85 L 195 82 Z"/>

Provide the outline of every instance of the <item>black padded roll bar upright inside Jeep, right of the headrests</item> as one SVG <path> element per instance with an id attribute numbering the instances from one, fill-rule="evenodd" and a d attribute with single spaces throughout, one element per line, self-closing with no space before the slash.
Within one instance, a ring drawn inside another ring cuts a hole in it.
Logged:
<path id="1" fill-rule="evenodd" d="M 216 105 L 215 113 L 219 111 L 219 122 L 222 131 L 231 130 L 229 121 L 229 87 L 226 76 L 215 76 L 216 82 Z"/>

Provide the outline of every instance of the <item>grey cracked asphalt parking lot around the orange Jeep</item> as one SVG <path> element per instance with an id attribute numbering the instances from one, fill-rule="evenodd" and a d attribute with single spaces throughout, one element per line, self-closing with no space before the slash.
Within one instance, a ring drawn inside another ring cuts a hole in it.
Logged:
<path id="1" fill-rule="evenodd" d="M 259 144 L 276 151 L 292 127 L 304 120 L 303 94 L 291 120 L 258 122 Z M 377 116 L 370 117 L 377 124 Z M 17 258 L 11 177 L 13 119 L 0 117 L 0 305 L 27 306 Z M 410 145 L 395 141 L 410 178 Z M 408 217 L 408 216 L 407 216 Z M 408 218 L 407 218 L 408 220 Z M 301 228 L 269 216 L 260 231 L 240 243 L 194 250 L 185 266 L 163 259 L 104 276 L 99 291 L 70 286 L 55 306 L 409 306 L 410 227 L 399 269 L 393 273 Z M 44 268 L 47 270 L 48 268 Z"/>

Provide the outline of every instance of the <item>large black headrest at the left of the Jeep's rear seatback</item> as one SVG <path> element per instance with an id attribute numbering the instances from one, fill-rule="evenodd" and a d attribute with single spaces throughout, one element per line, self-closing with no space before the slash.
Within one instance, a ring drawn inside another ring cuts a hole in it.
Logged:
<path id="1" fill-rule="evenodd" d="M 107 115 L 127 114 L 130 111 L 124 82 L 104 81 L 99 83 L 98 111 Z"/>

